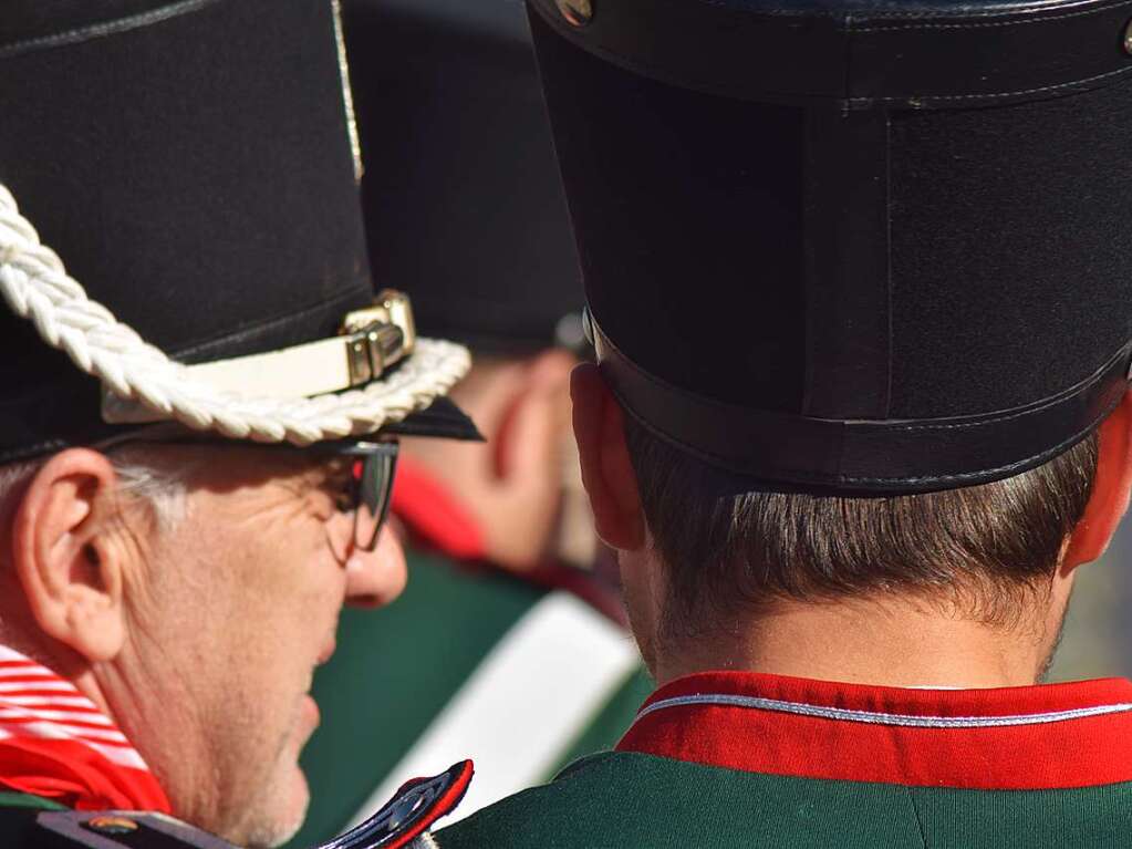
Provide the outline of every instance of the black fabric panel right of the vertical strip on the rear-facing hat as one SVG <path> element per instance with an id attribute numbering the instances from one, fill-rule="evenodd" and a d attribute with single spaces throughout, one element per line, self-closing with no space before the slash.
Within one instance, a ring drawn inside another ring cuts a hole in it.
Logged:
<path id="1" fill-rule="evenodd" d="M 1006 410 L 1132 335 L 1132 84 L 892 120 L 892 417 Z"/>

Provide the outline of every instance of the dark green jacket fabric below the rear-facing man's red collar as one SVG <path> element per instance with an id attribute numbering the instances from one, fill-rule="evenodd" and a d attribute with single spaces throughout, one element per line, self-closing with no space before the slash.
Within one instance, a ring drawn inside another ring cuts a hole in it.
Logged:
<path id="1" fill-rule="evenodd" d="M 584 758 L 434 835 L 439 849 L 1041 849 L 1132 846 L 1132 784 L 952 790 Z"/>

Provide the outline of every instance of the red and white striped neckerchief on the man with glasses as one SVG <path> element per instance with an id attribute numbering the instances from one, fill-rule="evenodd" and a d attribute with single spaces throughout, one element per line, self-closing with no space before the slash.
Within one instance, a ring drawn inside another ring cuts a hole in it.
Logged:
<path id="1" fill-rule="evenodd" d="M 0 788 L 79 811 L 171 813 L 126 736 L 70 681 L 0 646 Z"/>

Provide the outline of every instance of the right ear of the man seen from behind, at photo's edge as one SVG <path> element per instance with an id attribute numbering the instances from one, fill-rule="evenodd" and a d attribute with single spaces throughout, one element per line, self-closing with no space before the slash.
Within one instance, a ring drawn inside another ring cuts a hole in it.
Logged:
<path id="1" fill-rule="evenodd" d="M 1070 535 L 1062 571 L 1098 559 L 1127 511 L 1132 490 L 1132 392 L 1100 424 L 1097 475 L 1084 515 Z"/>

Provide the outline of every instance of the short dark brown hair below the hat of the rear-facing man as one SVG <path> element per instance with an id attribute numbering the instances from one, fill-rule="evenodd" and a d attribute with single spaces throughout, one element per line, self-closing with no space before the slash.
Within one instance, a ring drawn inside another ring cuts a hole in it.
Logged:
<path id="1" fill-rule="evenodd" d="M 1020 592 L 1053 576 L 1097 466 L 1094 432 L 994 483 L 891 497 L 764 491 L 736 487 L 627 413 L 625 421 L 667 571 L 667 627 L 702 627 L 705 615 L 736 604 L 887 591 L 960 593 L 971 616 L 1005 624 L 1020 612 Z"/>

